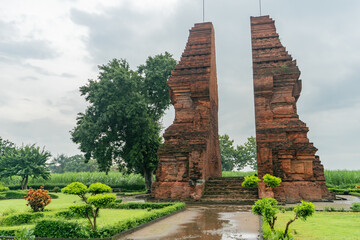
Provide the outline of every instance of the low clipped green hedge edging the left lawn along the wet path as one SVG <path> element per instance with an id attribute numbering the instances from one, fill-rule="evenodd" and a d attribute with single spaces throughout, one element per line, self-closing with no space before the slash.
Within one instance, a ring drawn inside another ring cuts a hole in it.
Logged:
<path id="1" fill-rule="evenodd" d="M 77 222 L 68 222 L 66 220 L 42 220 L 36 224 L 34 234 L 37 237 L 102 239 L 114 236 L 120 232 L 150 222 L 185 207 L 185 203 L 160 203 L 159 206 L 161 206 L 161 208 L 156 209 L 157 207 L 155 207 L 155 204 L 158 203 L 137 203 L 135 204 L 136 208 L 146 209 L 150 208 L 151 206 L 155 210 L 147 212 L 141 218 L 139 217 L 128 221 L 119 221 L 115 225 L 101 227 L 96 231 L 92 231 L 89 226 L 84 226 Z M 133 204 L 123 205 L 127 206 L 128 208 L 130 208 L 130 206 L 135 207 Z"/>

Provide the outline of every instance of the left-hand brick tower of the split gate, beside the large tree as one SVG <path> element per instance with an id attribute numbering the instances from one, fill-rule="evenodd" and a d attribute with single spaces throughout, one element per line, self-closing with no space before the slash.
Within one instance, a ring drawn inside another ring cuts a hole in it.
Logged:
<path id="1" fill-rule="evenodd" d="M 164 133 L 152 195 L 201 198 L 209 177 L 221 176 L 218 89 L 212 23 L 190 30 L 181 61 L 168 81 L 175 120 Z"/>

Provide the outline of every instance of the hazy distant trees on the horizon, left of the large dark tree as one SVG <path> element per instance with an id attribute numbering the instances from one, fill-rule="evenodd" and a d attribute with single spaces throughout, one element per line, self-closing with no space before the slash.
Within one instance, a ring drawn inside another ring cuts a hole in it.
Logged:
<path id="1" fill-rule="evenodd" d="M 61 154 L 54 158 L 49 164 L 49 169 L 53 173 L 64 172 L 95 172 L 98 170 L 96 160 L 90 159 L 87 163 L 83 155 L 68 157 Z"/>

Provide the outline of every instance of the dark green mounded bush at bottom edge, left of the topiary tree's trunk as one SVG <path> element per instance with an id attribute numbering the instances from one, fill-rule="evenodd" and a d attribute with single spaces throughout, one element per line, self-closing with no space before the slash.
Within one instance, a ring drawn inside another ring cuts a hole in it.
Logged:
<path id="1" fill-rule="evenodd" d="M 35 225 L 34 234 L 46 238 L 87 238 L 87 228 L 77 222 L 42 220 Z"/>

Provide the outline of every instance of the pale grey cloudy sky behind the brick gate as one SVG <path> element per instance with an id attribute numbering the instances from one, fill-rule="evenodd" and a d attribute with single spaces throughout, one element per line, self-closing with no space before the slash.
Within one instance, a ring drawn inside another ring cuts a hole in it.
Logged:
<path id="1" fill-rule="evenodd" d="M 300 118 L 327 169 L 360 169 L 360 1 L 262 0 L 297 60 Z M 205 0 L 215 27 L 219 131 L 236 144 L 255 135 L 250 16 L 257 0 Z M 97 65 L 135 68 L 168 51 L 178 60 L 202 0 L 12 0 L 0 8 L 0 136 L 77 154 L 69 131 L 86 108 L 79 87 Z M 164 127 L 174 117 L 172 109 Z"/>

